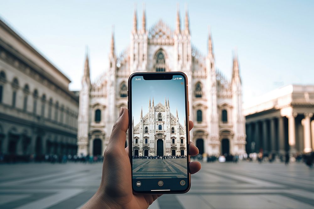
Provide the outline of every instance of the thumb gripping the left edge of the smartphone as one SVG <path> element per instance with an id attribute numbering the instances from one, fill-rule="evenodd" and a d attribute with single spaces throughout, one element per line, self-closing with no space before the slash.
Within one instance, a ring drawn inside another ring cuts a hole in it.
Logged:
<path id="1" fill-rule="evenodd" d="M 119 118 L 113 125 L 108 146 L 115 147 L 115 149 L 124 150 L 128 126 L 129 114 L 127 112 L 127 108 L 121 107 Z"/>

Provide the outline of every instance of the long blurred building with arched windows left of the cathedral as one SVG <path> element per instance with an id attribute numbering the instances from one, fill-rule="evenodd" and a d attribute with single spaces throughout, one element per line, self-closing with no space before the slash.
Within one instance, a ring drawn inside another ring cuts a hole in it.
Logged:
<path id="1" fill-rule="evenodd" d="M 75 154 L 78 97 L 71 81 L 0 19 L 0 153 Z"/>

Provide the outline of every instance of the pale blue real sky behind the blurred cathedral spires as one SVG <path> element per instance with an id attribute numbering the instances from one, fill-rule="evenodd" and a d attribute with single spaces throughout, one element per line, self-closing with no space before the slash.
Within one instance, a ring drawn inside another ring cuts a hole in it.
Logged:
<path id="1" fill-rule="evenodd" d="M 0 15 L 56 65 L 79 90 L 85 46 L 91 78 L 107 69 L 112 25 L 116 53 L 130 44 L 133 1 L 5 1 Z M 137 2 L 138 25 L 142 3 Z M 211 27 L 216 67 L 230 79 L 232 51 L 238 51 L 244 100 L 289 84 L 312 84 L 314 1 L 185 1 L 192 44 L 207 53 Z M 146 25 L 162 18 L 175 27 L 176 1 L 147 1 Z"/>

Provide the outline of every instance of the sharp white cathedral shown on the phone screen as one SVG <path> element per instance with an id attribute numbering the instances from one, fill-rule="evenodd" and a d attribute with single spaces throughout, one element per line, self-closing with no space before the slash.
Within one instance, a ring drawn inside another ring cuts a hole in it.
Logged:
<path id="1" fill-rule="evenodd" d="M 134 125 L 133 156 L 176 156 L 187 155 L 186 128 L 179 123 L 178 111 L 176 116 L 170 112 L 169 99 L 165 104 L 159 102 L 151 105 L 149 99 L 149 112 L 143 116 L 141 110 L 140 122 Z"/>

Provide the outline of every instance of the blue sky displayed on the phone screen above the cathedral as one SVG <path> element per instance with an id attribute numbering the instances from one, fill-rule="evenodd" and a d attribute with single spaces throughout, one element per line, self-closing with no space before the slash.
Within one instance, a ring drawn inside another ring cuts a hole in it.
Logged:
<path id="1" fill-rule="evenodd" d="M 183 78 L 182 76 L 174 76 L 173 78 Z M 136 81 L 135 78 L 141 78 Z M 184 124 L 185 118 L 185 91 L 183 80 L 144 80 L 143 76 L 135 76 L 132 79 L 132 115 L 134 116 L 134 125 L 139 123 L 141 108 L 143 106 L 143 116 L 148 112 L 149 97 L 151 102 L 156 106 L 159 102 L 165 104 L 165 97 L 168 101 L 170 112 L 176 117 L 176 109 L 178 110 L 179 123 Z"/>

